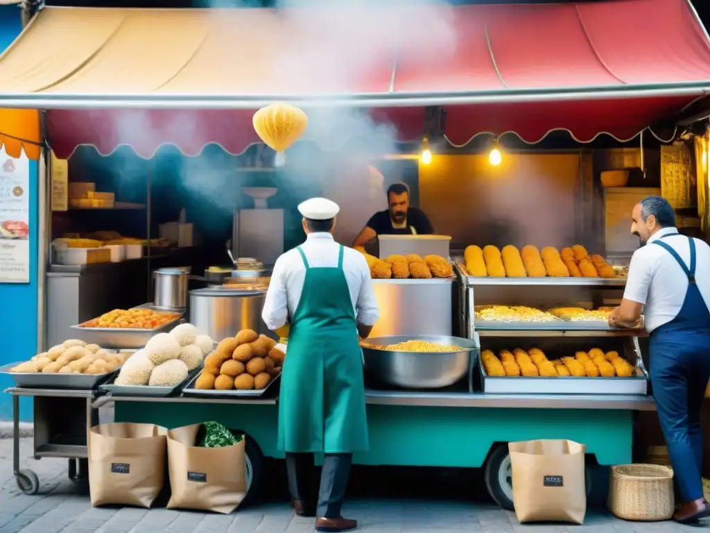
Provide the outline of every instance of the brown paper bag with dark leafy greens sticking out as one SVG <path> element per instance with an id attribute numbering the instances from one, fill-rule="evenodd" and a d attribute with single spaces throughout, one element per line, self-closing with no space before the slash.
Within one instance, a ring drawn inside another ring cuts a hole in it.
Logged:
<path id="1" fill-rule="evenodd" d="M 168 509 L 196 509 L 228 515 L 246 496 L 246 436 L 234 446 L 195 446 L 194 424 L 168 431 Z"/>

